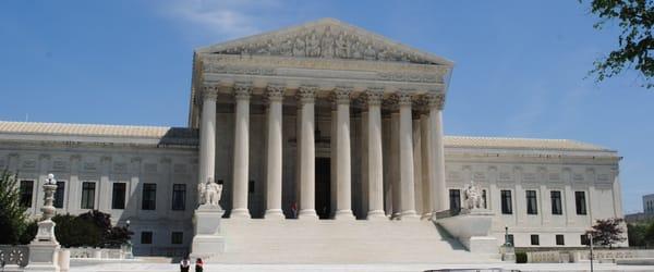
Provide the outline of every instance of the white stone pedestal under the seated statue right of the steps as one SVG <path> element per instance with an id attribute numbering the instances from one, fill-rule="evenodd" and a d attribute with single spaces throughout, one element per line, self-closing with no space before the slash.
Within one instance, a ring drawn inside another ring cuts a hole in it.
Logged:
<path id="1" fill-rule="evenodd" d="M 493 215 L 486 209 L 462 210 L 459 215 L 438 219 L 437 223 L 471 252 L 499 258 L 497 238 L 489 235 Z"/>

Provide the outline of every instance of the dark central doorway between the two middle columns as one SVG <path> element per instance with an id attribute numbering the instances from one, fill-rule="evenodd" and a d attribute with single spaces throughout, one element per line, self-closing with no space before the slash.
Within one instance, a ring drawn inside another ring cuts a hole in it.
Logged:
<path id="1" fill-rule="evenodd" d="M 331 212 L 331 160 L 316 158 L 316 212 L 320 219 L 329 219 Z"/>

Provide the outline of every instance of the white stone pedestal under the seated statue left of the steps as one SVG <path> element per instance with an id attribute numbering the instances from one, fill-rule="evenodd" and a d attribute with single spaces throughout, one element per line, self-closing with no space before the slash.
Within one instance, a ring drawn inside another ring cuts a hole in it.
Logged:
<path id="1" fill-rule="evenodd" d="M 192 258 L 207 258 L 225 251 L 220 220 L 225 211 L 218 205 L 201 205 L 193 214 L 195 236 L 191 245 Z"/>

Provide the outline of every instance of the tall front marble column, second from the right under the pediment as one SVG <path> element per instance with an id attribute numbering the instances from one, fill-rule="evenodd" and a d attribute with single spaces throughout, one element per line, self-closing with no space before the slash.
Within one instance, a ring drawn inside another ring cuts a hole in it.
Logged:
<path id="1" fill-rule="evenodd" d="M 400 107 L 400 205 L 402 209 L 400 218 L 402 220 L 420 219 L 415 213 L 411 98 L 409 92 L 398 92 L 398 104 Z"/>

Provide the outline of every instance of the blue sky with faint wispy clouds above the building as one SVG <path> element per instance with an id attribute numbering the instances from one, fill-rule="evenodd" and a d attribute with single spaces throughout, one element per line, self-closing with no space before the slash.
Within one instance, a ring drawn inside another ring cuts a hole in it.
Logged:
<path id="1" fill-rule="evenodd" d="M 654 193 L 654 89 L 592 62 L 618 29 L 553 1 L 2 1 L 0 120 L 185 126 L 194 48 L 336 17 L 456 62 L 448 135 L 616 149 L 625 211 Z"/>

